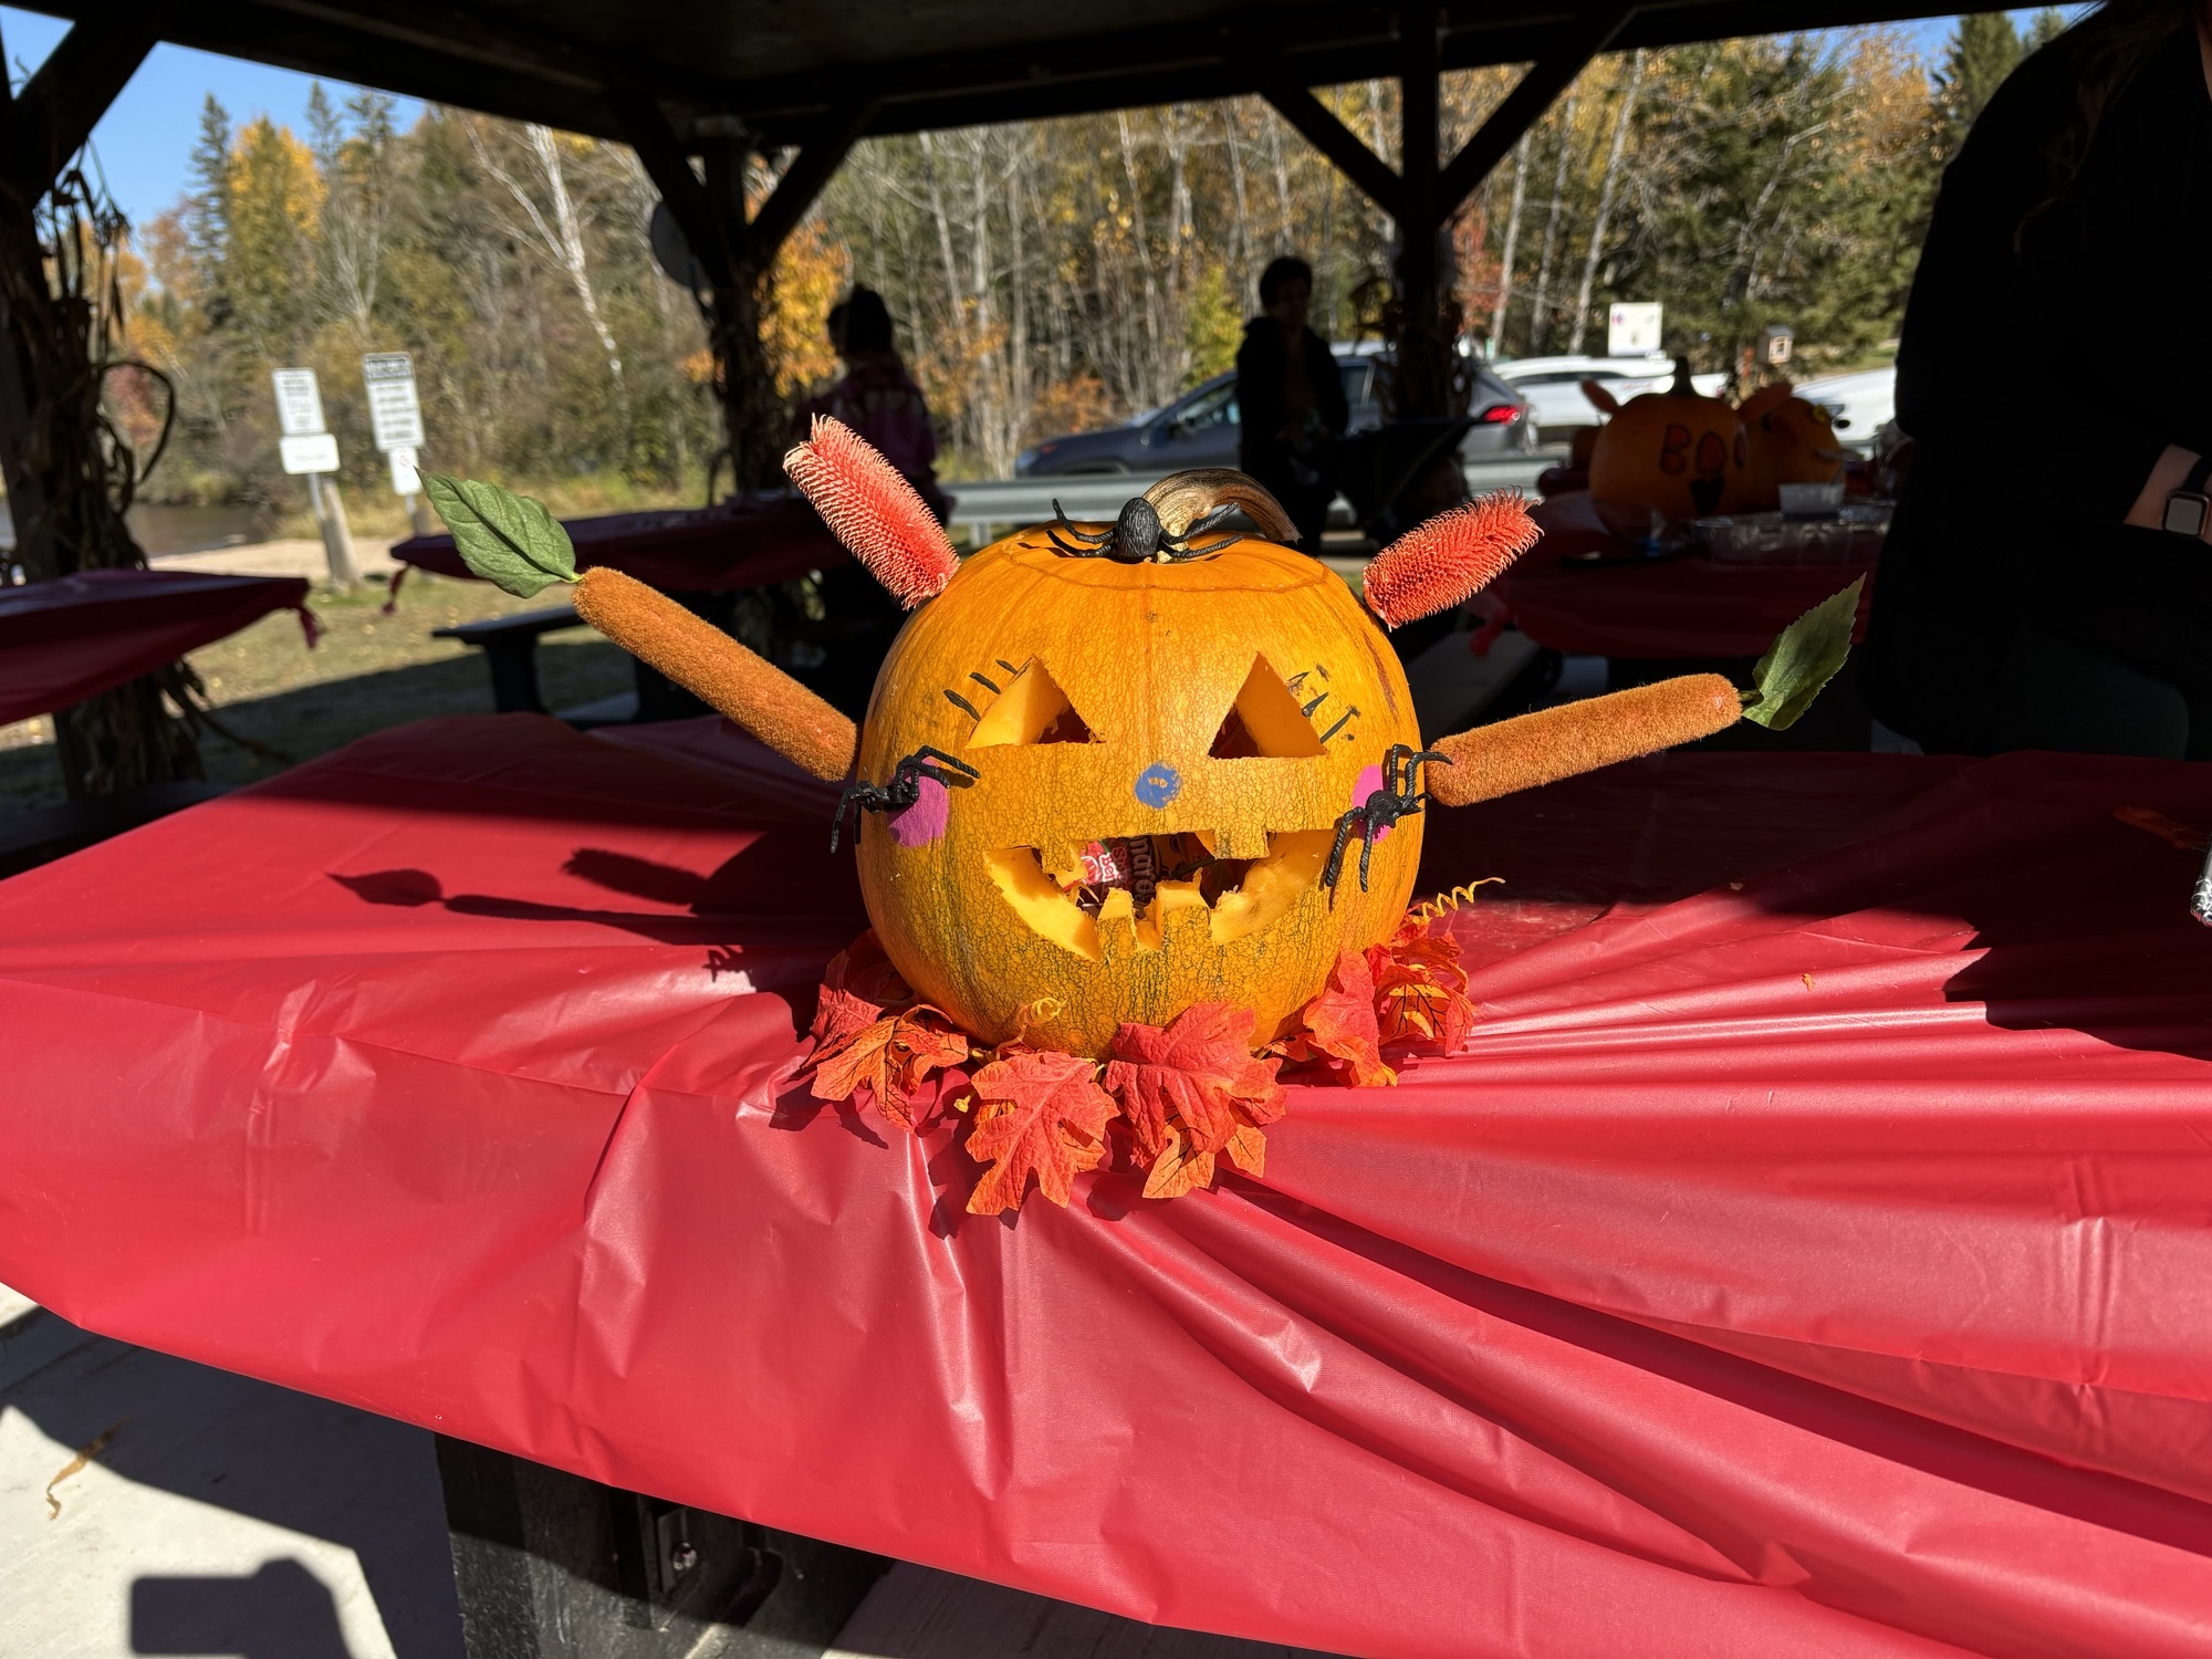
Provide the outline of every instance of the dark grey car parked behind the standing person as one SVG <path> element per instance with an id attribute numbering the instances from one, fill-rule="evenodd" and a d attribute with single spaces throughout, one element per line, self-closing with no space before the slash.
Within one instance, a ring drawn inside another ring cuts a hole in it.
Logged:
<path id="1" fill-rule="evenodd" d="M 1345 403 L 1352 405 L 1349 431 L 1383 425 L 1376 403 L 1376 349 L 1338 347 L 1336 372 L 1345 378 Z M 1522 398 L 1475 365 L 1475 396 L 1469 414 L 1473 431 L 1460 445 L 1462 456 L 1500 456 L 1533 449 L 1535 438 Z M 1152 409 L 1128 425 L 1102 431 L 1079 431 L 1046 438 L 1024 449 L 1013 462 L 1015 478 L 1064 478 L 1068 473 L 1155 473 L 1186 467 L 1234 467 L 1243 427 L 1237 422 L 1237 374 L 1217 374 L 1206 385 L 1186 392 L 1166 409 Z"/>

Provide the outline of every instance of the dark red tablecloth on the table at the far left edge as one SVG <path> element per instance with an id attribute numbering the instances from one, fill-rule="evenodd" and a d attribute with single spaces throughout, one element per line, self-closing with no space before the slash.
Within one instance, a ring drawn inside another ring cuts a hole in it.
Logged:
<path id="1" fill-rule="evenodd" d="M 0 726 L 82 703 L 270 611 L 299 611 L 307 619 L 307 582 L 84 571 L 0 588 Z"/>

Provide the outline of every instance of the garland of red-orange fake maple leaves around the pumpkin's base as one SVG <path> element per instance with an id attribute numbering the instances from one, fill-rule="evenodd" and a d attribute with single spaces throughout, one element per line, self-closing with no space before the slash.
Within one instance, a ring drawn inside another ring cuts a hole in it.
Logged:
<path id="1" fill-rule="evenodd" d="M 1201 1002 L 1168 1026 L 1124 1024 L 1106 1060 L 1037 1048 L 1022 1037 L 978 1048 L 940 1009 L 916 1002 L 863 933 L 830 962 L 814 1013 L 816 1099 L 874 1108 L 918 1135 L 947 1110 L 971 1121 L 967 1150 L 984 1170 L 967 1208 L 1015 1210 L 1037 1190 L 1066 1206 L 1071 1183 L 1126 1152 L 1148 1199 L 1212 1186 L 1219 1159 L 1261 1175 L 1265 1124 L 1283 1115 L 1276 1073 L 1314 1066 L 1343 1084 L 1394 1084 L 1383 1051 L 1422 1044 L 1458 1053 L 1473 1024 L 1460 942 L 1442 914 L 1418 907 L 1383 945 L 1345 951 L 1303 1024 L 1252 1053 L 1252 1011 Z"/>

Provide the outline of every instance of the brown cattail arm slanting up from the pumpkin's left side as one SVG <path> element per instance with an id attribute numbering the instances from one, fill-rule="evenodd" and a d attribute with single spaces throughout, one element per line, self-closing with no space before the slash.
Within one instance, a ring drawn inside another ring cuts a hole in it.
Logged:
<path id="1" fill-rule="evenodd" d="M 712 622 L 606 566 L 584 571 L 573 597 L 584 622 L 659 668 L 708 708 L 728 714 L 792 765 L 830 783 L 852 772 L 860 748 L 854 723 Z"/>

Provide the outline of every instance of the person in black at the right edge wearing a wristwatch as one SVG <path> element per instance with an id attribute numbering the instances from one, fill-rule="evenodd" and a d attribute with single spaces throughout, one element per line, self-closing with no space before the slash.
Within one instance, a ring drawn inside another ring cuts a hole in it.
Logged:
<path id="1" fill-rule="evenodd" d="M 2112 0 L 1997 88 L 1944 173 L 1867 637 L 1876 719 L 1927 750 L 2212 759 L 2205 13 Z"/>

